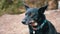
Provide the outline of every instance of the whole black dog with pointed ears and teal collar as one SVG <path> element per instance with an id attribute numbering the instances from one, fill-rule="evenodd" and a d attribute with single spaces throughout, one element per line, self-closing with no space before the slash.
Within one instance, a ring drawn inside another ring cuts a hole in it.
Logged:
<path id="1" fill-rule="evenodd" d="M 41 8 L 29 8 L 25 5 L 26 13 L 22 23 L 29 26 L 30 34 L 57 34 L 54 26 L 46 19 L 44 12 L 48 5 Z"/>

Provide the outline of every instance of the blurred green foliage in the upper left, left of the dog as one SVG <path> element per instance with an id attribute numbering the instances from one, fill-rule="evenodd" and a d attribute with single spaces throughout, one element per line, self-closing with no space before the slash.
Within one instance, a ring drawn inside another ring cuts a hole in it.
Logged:
<path id="1" fill-rule="evenodd" d="M 8 13 L 8 14 L 20 14 L 22 13 L 21 10 L 19 10 L 20 7 L 23 7 L 22 0 L 0 0 L 0 15 Z M 10 4 L 10 3 L 11 4 Z"/>

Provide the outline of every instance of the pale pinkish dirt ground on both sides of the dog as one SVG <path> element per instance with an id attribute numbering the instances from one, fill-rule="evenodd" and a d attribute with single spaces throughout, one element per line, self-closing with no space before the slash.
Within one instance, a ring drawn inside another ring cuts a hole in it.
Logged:
<path id="1" fill-rule="evenodd" d="M 57 32 L 60 32 L 60 10 L 45 12 L 46 18 L 52 22 Z M 27 25 L 21 23 L 24 13 L 19 15 L 4 14 L 0 17 L 0 34 L 29 34 Z"/>

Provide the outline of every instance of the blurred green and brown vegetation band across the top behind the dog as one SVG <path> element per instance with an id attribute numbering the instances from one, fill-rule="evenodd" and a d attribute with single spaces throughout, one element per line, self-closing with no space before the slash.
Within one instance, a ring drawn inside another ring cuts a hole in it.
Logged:
<path id="1" fill-rule="evenodd" d="M 59 0 L 0 0 L 0 15 L 23 13 L 24 4 L 37 8 L 48 4 L 48 10 L 58 9 L 60 6 Z"/>

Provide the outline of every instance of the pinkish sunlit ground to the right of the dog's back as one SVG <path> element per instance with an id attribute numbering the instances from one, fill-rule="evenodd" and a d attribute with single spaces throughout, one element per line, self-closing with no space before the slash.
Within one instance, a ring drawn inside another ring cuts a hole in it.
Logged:
<path id="1" fill-rule="evenodd" d="M 46 11 L 46 18 L 52 22 L 57 32 L 60 32 L 60 10 Z"/>

